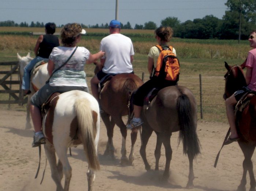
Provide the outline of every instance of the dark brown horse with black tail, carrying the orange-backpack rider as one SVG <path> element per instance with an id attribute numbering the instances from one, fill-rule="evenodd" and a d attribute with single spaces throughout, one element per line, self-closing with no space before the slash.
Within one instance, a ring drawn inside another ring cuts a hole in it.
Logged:
<path id="1" fill-rule="evenodd" d="M 166 165 L 163 179 L 169 177 L 172 149 L 170 138 L 172 132 L 179 131 L 179 141 L 183 140 L 183 152 L 189 158 L 189 180 L 187 187 L 193 187 L 193 159 L 200 153 L 199 139 L 196 133 L 197 106 L 193 93 L 183 86 L 169 86 L 160 90 L 153 98 L 150 105 L 145 106 L 142 112 L 141 149 L 140 154 L 145 164 L 145 169 L 150 170 L 146 160 L 146 144 L 152 132 L 157 135 L 155 158 L 155 170 L 159 169 L 159 159 L 162 143 L 166 153 Z"/>

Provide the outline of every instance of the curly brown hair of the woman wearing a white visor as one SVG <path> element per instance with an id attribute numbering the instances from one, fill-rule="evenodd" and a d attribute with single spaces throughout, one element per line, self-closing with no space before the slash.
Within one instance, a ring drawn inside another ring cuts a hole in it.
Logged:
<path id="1" fill-rule="evenodd" d="M 64 46 L 72 46 L 75 43 L 76 37 L 82 31 L 82 27 L 78 23 L 68 23 L 61 30 L 61 41 Z"/>

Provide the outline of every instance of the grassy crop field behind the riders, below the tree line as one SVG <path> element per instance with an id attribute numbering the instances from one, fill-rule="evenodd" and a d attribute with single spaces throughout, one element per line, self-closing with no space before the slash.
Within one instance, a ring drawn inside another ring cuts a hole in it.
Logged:
<path id="1" fill-rule="evenodd" d="M 56 32 L 61 29 L 57 28 Z M 0 62 L 16 61 L 16 53 L 25 56 L 30 52 L 34 56 L 33 49 L 38 36 L 25 34 L 11 34 L 13 32 L 42 32 L 44 28 L 29 27 L 0 27 Z M 108 35 L 108 29 L 86 29 L 78 46 L 84 46 L 92 53 L 99 50 L 100 40 Z M 6 32 L 10 32 L 7 34 Z M 6 34 L 5 34 L 6 33 Z M 153 30 L 121 30 L 122 34 L 129 36 L 134 45 L 134 72 L 144 77 L 144 82 L 149 79 L 147 61 L 149 48 L 156 45 Z M 199 39 L 171 39 L 170 44 L 175 47 L 181 64 L 179 85 L 191 89 L 196 97 L 198 105 L 198 119 L 203 121 L 227 122 L 224 93 L 224 74 L 226 69 L 224 61 L 230 65 L 241 64 L 250 50 L 249 43 L 237 40 L 199 40 Z M 4 68 L 1 67 L 0 70 Z M 6 67 L 5 67 L 6 69 Z M 88 82 L 93 76 L 94 65 L 86 65 L 85 71 Z M 200 113 L 200 80 L 201 75 L 201 106 Z M 1 76 L 0 76 L 1 78 Z M 0 94 L 0 99 L 5 95 Z M 0 108 L 6 107 L 0 105 Z M 17 106 L 11 106 L 17 108 Z M 25 106 L 20 109 L 25 109 Z"/>

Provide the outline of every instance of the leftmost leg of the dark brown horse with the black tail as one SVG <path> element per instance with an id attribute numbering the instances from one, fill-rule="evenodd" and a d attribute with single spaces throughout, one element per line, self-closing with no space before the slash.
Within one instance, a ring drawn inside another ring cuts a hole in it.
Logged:
<path id="1" fill-rule="evenodd" d="M 151 169 L 150 165 L 148 164 L 148 160 L 146 160 L 146 145 L 148 144 L 149 137 L 152 135 L 153 130 L 142 125 L 142 132 L 141 132 L 141 148 L 140 148 L 140 155 L 143 159 L 145 164 L 145 169 L 149 171 Z"/>

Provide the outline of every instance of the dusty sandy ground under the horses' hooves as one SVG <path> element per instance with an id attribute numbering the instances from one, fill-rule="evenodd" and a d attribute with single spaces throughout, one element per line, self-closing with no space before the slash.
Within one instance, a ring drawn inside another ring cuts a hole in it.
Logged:
<path id="1" fill-rule="evenodd" d="M 25 115 L 23 111 L 0 110 L 0 190 L 1 191 L 52 191 L 56 189 L 51 179 L 47 163 L 45 177 L 40 185 L 45 166 L 45 153 L 42 149 L 41 169 L 37 179 L 34 179 L 38 166 L 38 149 L 31 148 L 32 130 L 25 130 Z M 215 157 L 222 145 L 228 129 L 227 124 L 199 122 L 197 127 L 201 142 L 201 155 L 194 160 L 193 191 L 228 191 L 236 190 L 242 177 L 242 161 L 244 157 L 237 143 L 222 149 L 217 168 L 214 168 Z M 172 160 L 168 183 L 161 181 L 165 165 L 164 150 L 160 158 L 160 170 L 146 171 L 139 154 L 141 145 L 138 136 L 135 147 L 133 166 L 123 167 L 120 163 L 121 135 L 116 126 L 114 131 L 115 160 L 103 156 L 107 142 L 106 129 L 101 122 L 99 159 L 101 170 L 97 172 L 93 190 L 95 191 L 128 191 L 128 190 L 186 190 L 188 181 L 188 157 L 182 153 L 182 145 L 178 147 L 178 133 L 171 137 Z M 147 157 L 151 167 L 155 167 L 154 149 L 156 136 L 153 133 L 147 147 Z M 130 136 L 127 136 L 127 152 L 130 152 Z M 82 146 L 72 149 L 69 156 L 73 174 L 71 191 L 87 190 L 87 162 Z M 255 164 L 255 155 L 253 156 Z M 249 178 L 247 190 L 249 190 Z"/>

